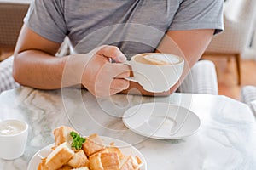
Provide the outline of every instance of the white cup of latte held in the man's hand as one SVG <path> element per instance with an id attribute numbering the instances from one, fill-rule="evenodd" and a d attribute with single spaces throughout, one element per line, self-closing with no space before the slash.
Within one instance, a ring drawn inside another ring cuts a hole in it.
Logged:
<path id="1" fill-rule="evenodd" d="M 127 80 L 138 82 L 148 92 L 160 93 L 172 88 L 183 73 L 184 59 L 173 54 L 145 53 L 131 57 L 133 77 Z"/>

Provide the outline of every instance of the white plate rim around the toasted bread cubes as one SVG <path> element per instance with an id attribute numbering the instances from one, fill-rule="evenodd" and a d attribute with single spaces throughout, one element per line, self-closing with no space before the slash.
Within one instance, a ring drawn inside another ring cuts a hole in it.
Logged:
<path id="1" fill-rule="evenodd" d="M 101 136 L 104 144 L 108 146 L 110 143 L 114 143 L 115 146 L 119 147 L 119 149 L 122 151 L 122 153 L 125 156 L 138 156 L 140 160 L 142 161 L 142 167 L 141 170 L 147 170 L 147 163 L 146 160 L 141 152 L 139 152 L 135 147 L 133 147 L 131 144 L 127 144 L 124 141 L 121 141 L 119 139 L 113 139 L 109 137 Z M 31 161 L 29 161 L 27 170 L 35 170 L 38 169 L 38 165 L 41 162 L 41 157 L 47 157 L 49 156 L 49 153 L 52 151 L 52 147 L 55 144 L 49 144 L 48 146 L 45 146 L 43 149 L 39 150 L 34 156 L 32 156 Z"/>

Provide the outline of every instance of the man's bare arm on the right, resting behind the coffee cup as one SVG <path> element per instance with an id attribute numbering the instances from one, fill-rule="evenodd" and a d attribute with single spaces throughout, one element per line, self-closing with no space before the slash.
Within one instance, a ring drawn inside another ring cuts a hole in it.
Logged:
<path id="1" fill-rule="evenodd" d="M 179 87 L 180 83 L 183 82 L 184 77 L 189 73 L 191 67 L 195 65 L 195 62 L 198 61 L 198 59 L 201 58 L 201 55 L 204 53 L 208 44 L 212 40 L 213 32 L 213 29 L 168 31 L 155 52 L 178 54 L 183 56 L 185 60 L 185 65 L 183 75 L 181 76 L 180 80 L 169 91 L 157 94 L 145 91 L 136 82 L 130 82 L 130 87 L 123 91 L 123 93 L 138 94 L 137 90 L 130 91 L 134 88 L 138 89 L 141 94 L 149 96 L 169 95 L 175 92 Z"/>

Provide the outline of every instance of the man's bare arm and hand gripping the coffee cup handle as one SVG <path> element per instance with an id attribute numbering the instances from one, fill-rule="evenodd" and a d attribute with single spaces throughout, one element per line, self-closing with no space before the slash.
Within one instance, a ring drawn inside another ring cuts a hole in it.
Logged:
<path id="1" fill-rule="evenodd" d="M 15 48 L 15 80 L 40 89 L 82 85 L 97 97 L 116 94 L 128 87 L 124 77 L 129 77 L 130 69 L 119 64 L 125 60 L 119 48 L 102 46 L 89 54 L 55 57 L 60 45 L 23 26 Z M 117 63 L 110 63 L 109 57 Z"/>

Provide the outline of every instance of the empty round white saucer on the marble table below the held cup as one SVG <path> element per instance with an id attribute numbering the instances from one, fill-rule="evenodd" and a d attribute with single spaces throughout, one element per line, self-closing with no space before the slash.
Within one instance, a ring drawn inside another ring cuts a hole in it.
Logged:
<path id="1" fill-rule="evenodd" d="M 145 103 L 125 111 L 125 126 L 154 139 L 181 139 L 194 134 L 201 121 L 192 111 L 168 103 Z"/>

